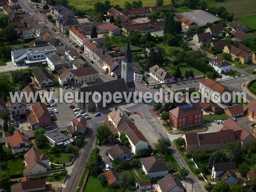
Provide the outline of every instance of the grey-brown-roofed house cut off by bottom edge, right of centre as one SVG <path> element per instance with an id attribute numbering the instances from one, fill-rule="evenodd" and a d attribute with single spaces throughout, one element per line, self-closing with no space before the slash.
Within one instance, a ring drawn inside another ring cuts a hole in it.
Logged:
<path id="1" fill-rule="evenodd" d="M 168 174 L 163 179 L 157 181 L 160 192 L 185 192 L 185 187 L 178 177 Z"/>

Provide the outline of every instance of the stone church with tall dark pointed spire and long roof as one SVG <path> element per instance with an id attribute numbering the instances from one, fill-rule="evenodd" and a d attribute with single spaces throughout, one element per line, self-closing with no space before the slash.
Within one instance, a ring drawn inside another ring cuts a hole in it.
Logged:
<path id="1" fill-rule="evenodd" d="M 122 75 L 121 79 L 115 79 L 113 81 L 107 81 L 104 83 L 87 85 L 83 84 L 83 86 L 79 89 L 79 99 L 81 96 L 84 98 L 82 99 L 84 102 L 78 103 L 78 107 L 85 111 L 98 111 L 102 108 L 102 101 L 99 103 L 94 103 L 92 100 L 92 96 L 90 95 L 88 101 L 86 102 L 85 94 L 88 92 L 99 92 L 101 95 L 103 92 L 110 92 L 113 96 L 115 92 L 127 93 L 128 92 L 135 92 L 135 84 L 134 84 L 134 59 L 131 55 L 130 44 L 128 43 L 125 58 L 121 63 L 122 68 Z M 123 96 L 123 95 L 122 95 Z M 124 98 L 124 97 L 123 97 Z M 113 101 L 112 101 L 113 102 Z M 111 104 L 111 103 L 110 103 Z M 108 107 L 107 104 L 106 107 Z"/>

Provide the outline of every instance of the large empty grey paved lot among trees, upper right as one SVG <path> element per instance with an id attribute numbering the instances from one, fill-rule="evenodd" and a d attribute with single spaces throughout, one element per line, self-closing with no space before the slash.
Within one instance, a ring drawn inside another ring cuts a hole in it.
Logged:
<path id="1" fill-rule="evenodd" d="M 220 20 L 219 17 L 210 14 L 209 12 L 195 10 L 193 12 L 180 13 L 181 15 L 193 20 L 198 26 L 205 25 L 206 23 L 213 23 L 215 20 Z"/>

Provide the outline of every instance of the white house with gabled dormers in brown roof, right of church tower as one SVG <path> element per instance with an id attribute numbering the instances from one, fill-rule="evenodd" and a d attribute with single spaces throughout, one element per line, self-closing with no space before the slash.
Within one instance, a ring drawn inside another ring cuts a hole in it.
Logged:
<path id="1" fill-rule="evenodd" d="M 174 81 L 173 76 L 158 65 L 149 68 L 149 74 L 160 83 L 171 83 Z"/>

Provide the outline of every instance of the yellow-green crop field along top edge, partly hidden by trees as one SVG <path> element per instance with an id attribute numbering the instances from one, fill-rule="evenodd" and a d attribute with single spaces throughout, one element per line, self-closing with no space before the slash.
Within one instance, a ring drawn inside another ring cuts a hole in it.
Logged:
<path id="1" fill-rule="evenodd" d="M 93 9 L 93 5 L 95 2 L 104 2 L 105 0 L 69 0 L 68 5 L 75 7 L 76 9 L 80 9 L 83 11 L 89 11 Z M 156 1 L 155 0 L 142 0 L 143 2 L 143 7 L 150 7 L 150 6 L 155 6 Z M 170 4 L 169 0 L 163 0 L 164 5 Z M 130 2 L 131 3 L 131 2 Z M 124 7 L 125 1 L 124 0 L 113 0 L 111 1 L 111 5 L 117 5 L 121 8 Z"/>

